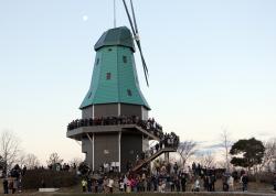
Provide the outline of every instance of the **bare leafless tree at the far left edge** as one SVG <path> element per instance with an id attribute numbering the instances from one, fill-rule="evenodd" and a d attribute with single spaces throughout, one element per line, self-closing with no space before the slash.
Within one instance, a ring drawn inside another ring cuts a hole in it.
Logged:
<path id="1" fill-rule="evenodd" d="M 19 139 L 11 131 L 3 131 L 0 135 L 0 156 L 3 170 L 8 172 L 15 164 L 19 155 Z"/>

